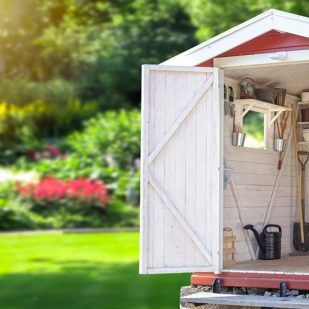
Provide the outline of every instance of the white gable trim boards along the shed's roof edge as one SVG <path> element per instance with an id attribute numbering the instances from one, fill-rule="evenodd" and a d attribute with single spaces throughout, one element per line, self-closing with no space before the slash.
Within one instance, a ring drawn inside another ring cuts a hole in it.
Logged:
<path id="1" fill-rule="evenodd" d="M 270 9 L 181 53 L 162 65 L 197 66 L 270 30 L 309 37 L 309 18 Z"/>

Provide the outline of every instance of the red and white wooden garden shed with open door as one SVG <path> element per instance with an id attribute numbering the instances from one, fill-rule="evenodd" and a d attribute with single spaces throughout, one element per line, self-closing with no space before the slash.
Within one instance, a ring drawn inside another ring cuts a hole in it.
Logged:
<path id="1" fill-rule="evenodd" d="M 140 273 L 193 272 L 194 285 L 221 278 L 226 286 L 275 288 L 285 281 L 309 290 L 309 256 L 289 256 L 300 220 L 291 107 L 298 151 L 308 151 L 300 118 L 308 72 L 309 18 L 273 9 L 160 65 L 142 66 Z M 240 100 L 243 78 L 256 89 L 285 88 L 284 106 Z M 225 115 L 225 85 L 234 91 L 235 120 L 230 103 Z M 261 147 L 233 146 L 233 120 L 245 128 L 248 111 L 263 115 Z M 274 138 L 283 112 L 278 169 Z M 234 169 L 225 190 L 224 165 Z M 281 259 L 258 259 L 247 224 L 259 232 L 281 226 Z M 223 266 L 226 227 L 236 236 L 236 264 Z"/>

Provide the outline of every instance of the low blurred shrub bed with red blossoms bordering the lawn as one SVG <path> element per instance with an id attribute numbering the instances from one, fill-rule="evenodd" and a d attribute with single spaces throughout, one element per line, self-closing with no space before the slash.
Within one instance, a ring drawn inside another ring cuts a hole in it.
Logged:
<path id="1" fill-rule="evenodd" d="M 88 179 L 2 183 L 0 230 L 138 226 L 139 209 L 106 193 Z"/>

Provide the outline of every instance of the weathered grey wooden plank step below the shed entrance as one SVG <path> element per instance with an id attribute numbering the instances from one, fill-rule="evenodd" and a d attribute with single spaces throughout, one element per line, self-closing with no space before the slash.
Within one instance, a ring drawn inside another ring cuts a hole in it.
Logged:
<path id="1" fill-rule="evenodd" d="M 253 306 L 269 308 L 294 308 L 308 309 L 309 299 L 290 297 L 251 296 L 234 294 L 196 293 L 180 297 L 181 302 L 194 303 L 196 306 L 203 304 L 219 304 L 234 306 Z"/>

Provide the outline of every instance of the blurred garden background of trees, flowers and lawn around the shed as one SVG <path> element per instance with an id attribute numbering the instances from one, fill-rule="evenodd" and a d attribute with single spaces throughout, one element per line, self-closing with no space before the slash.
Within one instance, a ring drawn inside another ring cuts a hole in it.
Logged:
<path id="1" fill-rule="evenodd" d="M 270 8 L 309 16 L 305 0 L 0 0 L 1 309 L 178 308 L 189 273 L 138 274 L 141 65 Z"/>

